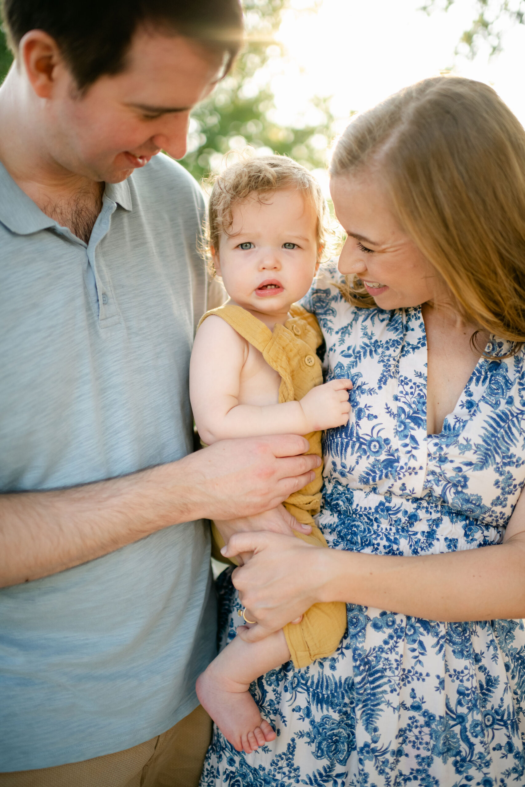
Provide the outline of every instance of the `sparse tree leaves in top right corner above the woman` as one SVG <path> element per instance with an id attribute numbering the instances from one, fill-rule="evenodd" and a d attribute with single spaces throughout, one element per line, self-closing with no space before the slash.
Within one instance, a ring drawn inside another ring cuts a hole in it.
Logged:
<path id="1" fill-rule="evenodd" d="M 422 11 L 431 13 L 436 9 L 448 11 L 457 0 L 430 0 Z M 466 53 L 472 59 L 478 53 L 482 41 L 490 47 L 490 57 L 501 52 L 503 29 L 501 23 L 510 20 L 525 24 L 525 0 L 476 0 L 478 15 L 471 27 L 465 30 L 456 47 L 456 54 Z"/>

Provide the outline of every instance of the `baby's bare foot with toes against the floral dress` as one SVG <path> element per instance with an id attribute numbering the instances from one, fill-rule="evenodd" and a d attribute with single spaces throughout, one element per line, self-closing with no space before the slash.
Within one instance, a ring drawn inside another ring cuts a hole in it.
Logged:
<path id="1" fill-rule="evenodd" d="M 272 726 L 265 721 L 248 685 L 235 683 L 211 663 L 197 679 L 197 696 L 221 733 L 238 752 L 251 754 L 259 746 L 275 740 Z"/>

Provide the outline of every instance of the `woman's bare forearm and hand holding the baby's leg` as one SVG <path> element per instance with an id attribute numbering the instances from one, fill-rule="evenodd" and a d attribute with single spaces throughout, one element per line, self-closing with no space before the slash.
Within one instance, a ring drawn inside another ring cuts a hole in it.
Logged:
<path id="1" fill-rule="evenodd" d="M 525 617 L 525 495 L 501 545 L 397 557 L 317 549 L 289 536 L 236 534 L 225 556 L 254 552 L 234 571 L 242 603 L 264 628 L 254 640 L 319 601 L 402 612 L 431 620 Z M 246 634 L 247 636 L 247 634 Z"/>

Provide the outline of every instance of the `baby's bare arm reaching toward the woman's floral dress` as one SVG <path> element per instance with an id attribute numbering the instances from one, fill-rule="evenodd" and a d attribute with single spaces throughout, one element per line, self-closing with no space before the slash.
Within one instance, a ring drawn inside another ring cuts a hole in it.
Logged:
<path id="1" fill-rule="evenodd" d="M 348 420 L 349 380 L 333 380 L 315 393 L 307 393 L 301 402 L 240 405 L 240 380 L 247 357 L 246 340 L 220 317 L 209 316 L 198 329 L 191 353 L 190 400 L 204 442 L 211 445 L 228 438 L 307 434 Z"/>

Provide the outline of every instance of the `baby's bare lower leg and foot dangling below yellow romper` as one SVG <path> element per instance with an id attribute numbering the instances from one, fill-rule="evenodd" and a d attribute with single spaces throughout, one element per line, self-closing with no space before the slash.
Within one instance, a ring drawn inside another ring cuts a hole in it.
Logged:
<path id="1" fill-rule="evenodd" d="M 288 660 L 290 651 L 282 630 L 258 642 L 235 637 L 199 675 L 197 696 L 201 705 L 238 752 L 251 754 L 274 740 L 275 732 L 261 718 L 248 689 L 255 678 Z"/>

